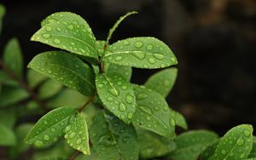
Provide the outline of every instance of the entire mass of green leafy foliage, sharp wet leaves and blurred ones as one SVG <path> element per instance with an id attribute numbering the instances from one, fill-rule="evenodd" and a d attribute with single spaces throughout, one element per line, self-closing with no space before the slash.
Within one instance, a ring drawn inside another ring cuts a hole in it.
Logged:
<path id="1" fill-rule="evenodd" d="M 4 12 L 0 5 L 0 26 Z M 165 99 L 177 68 L 156 72 L 144 85 L 130 83 L 132 67 L 177 64 L 172 50 L 154 37 L 109 43 L 131 14 L 137 12 L 122 16 L 106 41 L 97 41 L 77 14 L 49 15 L 31 40 L 56 49 L 34 57 L 26 77 L 18 40 L 7 43 L 0 61 L 0 146 L 8 147 L 9 159 L 26 159 L 30 152 L 29 159 L 39 160 L 256 158 L 248 124 L 221 138 L 207 130 L 175 132 L 177 126 L 188 129 L 183 115 Z M 24 117 L 41 118 L 34 124 Z"/>

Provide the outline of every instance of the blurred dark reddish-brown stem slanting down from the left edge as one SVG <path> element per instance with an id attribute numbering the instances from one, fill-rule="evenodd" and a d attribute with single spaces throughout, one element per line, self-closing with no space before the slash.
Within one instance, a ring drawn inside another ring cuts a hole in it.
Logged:
<path id="1" fill-rule="evenodd" d="M 38 94 L 36 94 L 29 86 L 27 83 L 25 83 L 21 78 L 16 77 L 15 73 L 11 70 L 9 70 L 9 68 L 7 66 L 4 65 L 3 60 L 0 59 L 0 68 L 3 69 L 4 72 L 6 72 L 9 77 L 11 77 L 12 79 L 14 79 L 17 83 L 20 84 L 20 86 L 26 90 L 26 92 L 28 94 L 30 94 L 30 96 L 32 97 L 33 100 L 38 102 L 38 105 L 41 106 L 45 111 L 48 111 L 48 109 L 44 106 L 44 102 L 42 100 L 40 100 L 38 98 Z"/>

